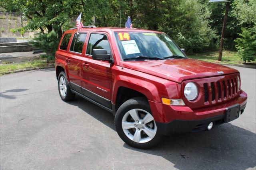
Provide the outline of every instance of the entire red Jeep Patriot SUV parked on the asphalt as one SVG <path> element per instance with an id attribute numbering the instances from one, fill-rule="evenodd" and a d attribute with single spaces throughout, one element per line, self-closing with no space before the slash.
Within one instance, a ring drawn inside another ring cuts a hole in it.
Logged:
<path id="1" fill-rule="evenodd" d="M 110 111 L 120 138 L 136 148 L 172 132 L 210 130 L 246 106 L 239 71 L 189 59 L 163 32 L 73 28 L 55 63 L 61 99 L 79 95 Z"/>

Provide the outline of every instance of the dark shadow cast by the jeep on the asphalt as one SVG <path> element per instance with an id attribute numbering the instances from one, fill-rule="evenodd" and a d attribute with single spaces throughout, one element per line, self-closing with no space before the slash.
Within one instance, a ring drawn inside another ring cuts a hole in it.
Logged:
<path id="1" fill-rule="evenodd" d="M 79 96 L 68 103 L 115 130 L 112 113 Z M 132 148 L 125 143 L 123 146 L 136 152 L 161 156 L 181 170 L 244 170 L 256 166 L 256 134 L 231 123 L 220 125 L 210 131 L 173 134 L 164 137 L 157 147 L 150 150 Z"/>

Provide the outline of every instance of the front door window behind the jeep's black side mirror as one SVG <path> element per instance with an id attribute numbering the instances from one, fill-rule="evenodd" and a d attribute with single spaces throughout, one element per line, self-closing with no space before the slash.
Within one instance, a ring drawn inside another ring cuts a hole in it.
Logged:
<path id="1" fill-rule="evenodd" d="M 104 34 L 91 34 L 86 54 L 92 55 L 93 49 L 106 49 L 110 54 L 108 38 Z"/>

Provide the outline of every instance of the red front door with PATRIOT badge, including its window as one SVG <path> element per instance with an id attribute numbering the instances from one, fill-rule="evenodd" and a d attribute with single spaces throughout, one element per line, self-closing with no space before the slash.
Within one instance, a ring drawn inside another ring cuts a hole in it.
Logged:
<path id="1" fill-rule="evenodd" d="M 111 108 L 111 64 L 108 61 L 92 59 L 93 49 L 106 49 L 111 54 L 108 35 L 92 32 L 82 61 L 82 92 L 94 101 Z"/>

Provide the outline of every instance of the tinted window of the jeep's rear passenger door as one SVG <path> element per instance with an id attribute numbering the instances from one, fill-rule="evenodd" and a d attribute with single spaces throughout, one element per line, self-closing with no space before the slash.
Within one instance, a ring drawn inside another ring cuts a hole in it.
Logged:
<path id="1" fill-rule="evenodd" d="M 70 45 L 70 51 L 82 53 L 86 35 L 86 33 L 75 34 Z"/>

